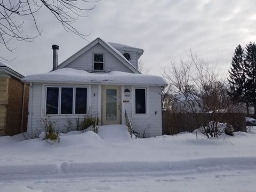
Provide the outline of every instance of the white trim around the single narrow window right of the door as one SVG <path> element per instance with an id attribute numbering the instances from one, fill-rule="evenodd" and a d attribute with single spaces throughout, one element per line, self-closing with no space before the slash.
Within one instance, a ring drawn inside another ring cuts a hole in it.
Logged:
<path id="1" fill-rule="evenodd" d="M 145 89 L 146 98 L 146 114 L 137 114 L 135 109 L 135 89 Z M 149 113 L 149 86 L 132 86 L 132 117 L 134 118 L 148 118 Z"/>

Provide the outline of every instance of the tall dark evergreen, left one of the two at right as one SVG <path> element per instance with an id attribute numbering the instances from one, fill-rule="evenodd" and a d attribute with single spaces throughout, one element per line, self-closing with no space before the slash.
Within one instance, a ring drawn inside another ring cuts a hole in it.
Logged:
<path id="1" fill-rule="evenodd" d="M 241 45 L 235 49 L 231 61 L 229 72 L 229 91 L 228 94 L 234 103 L 244 102 L 245 68 L 244 68 L 244 50 Z"/>

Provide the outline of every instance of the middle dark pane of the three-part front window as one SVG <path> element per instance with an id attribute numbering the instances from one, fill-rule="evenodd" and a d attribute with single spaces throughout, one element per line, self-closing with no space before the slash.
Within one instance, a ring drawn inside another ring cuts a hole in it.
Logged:
<path id="1" fill-rule="evenodd" d="M 61 88 L 61 114 L 73 114 L 73 88 Z"/>

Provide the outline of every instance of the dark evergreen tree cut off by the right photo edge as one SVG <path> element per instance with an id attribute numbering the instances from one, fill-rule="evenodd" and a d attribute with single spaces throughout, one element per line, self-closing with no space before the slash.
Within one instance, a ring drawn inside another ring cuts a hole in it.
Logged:
<path id="1" fill-rule="evenodd" d="M 248 90 L 247 101 L 254 107 L 256 114 L 256 45 L 249 43 L 245 46 L 244 67 L 246 70 L 245 88 Z"/>

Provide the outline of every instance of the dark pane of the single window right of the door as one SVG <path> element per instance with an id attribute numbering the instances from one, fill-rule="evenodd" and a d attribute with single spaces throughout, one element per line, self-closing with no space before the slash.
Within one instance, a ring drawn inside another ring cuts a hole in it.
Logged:
<path id="1" fill-rule="evenodd" d="M 135 113 L 146 114 L 146 90 L 135 89 Z"/>

